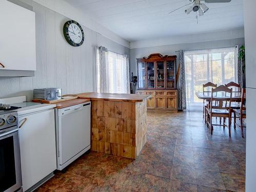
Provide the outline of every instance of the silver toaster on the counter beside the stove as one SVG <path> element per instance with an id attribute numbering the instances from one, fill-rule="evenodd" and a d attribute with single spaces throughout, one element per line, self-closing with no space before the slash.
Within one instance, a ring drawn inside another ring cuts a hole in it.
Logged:
<path id="1" fill-rule="evenodd" d="M 34 89 L 34 99 L 56 100 L 61 99 L 60 88 Z"/>

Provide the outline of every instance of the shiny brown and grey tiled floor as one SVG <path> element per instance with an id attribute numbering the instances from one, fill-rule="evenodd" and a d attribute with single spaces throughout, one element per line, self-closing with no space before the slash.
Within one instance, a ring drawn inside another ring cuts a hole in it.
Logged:
<path id="1" fill-rule="evenodd" d="M 148 112 L 147 143 L 136 160 L 90 152 L 37 191 L 245 191 L 245 139 L 202 113 Z"/>

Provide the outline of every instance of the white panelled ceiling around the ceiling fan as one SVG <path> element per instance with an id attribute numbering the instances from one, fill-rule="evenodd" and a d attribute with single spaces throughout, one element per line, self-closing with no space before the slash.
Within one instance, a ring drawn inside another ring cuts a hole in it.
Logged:
<path id="1" fill-rule="evenodd" d="M 189 0 L 65 0 L 128 41 L 220 31 L 244 26 L 243 0 L 206 4 L 199 17 L 184 13 Z M 188 6 L 187 6 L 188 7 Z"/>

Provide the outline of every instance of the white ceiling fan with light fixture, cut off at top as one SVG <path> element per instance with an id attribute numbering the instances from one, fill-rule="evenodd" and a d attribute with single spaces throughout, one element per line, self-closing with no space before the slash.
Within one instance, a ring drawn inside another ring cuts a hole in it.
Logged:
<path id="1" fill-rule="evenodd" d="M 178 9 L 175 9 L 175 10 L 169 12 L 169 13 L 173 13 L 183 7 L 193 4 L 189 8 L 185 9 L 185 13 L 188 15 L 189 13 L 194 11 L 194 12 L 196 12 L 196 18 L 198 18 L 198 16 L 204 15 L 204 13 L 209 10 L 209 8 L 201 2 L 205 2 L 205 3 L 229 3 L 229 2 L 231 2 L 231 0 L 189 0 L 189 1 L 191 3 L 186 4 Z"/>

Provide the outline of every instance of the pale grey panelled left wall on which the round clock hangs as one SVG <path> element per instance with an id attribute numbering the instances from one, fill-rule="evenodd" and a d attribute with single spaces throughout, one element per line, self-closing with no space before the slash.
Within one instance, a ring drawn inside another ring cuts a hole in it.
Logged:
<path id="1" fill-rule="evenodd" d="M 13 0 L 12 2 L 15 3 Z M 36 13 L 37 71 L 35 77 L 0 77 L 0 98 L 26 95 L 30 100 L 33 98 L 33 89 L 46 87 L 59 87 L 63 94 L 93 92 L 96 83 L 95 46 L 105 46 L 120 54 L 130 54 L 129 48 L 84 26 L 85 42 L 80 47 L 71 47 L 62 32 L 63 25 L 69 18 L 33 1 L 22 2 L 27 3 Z"/>

